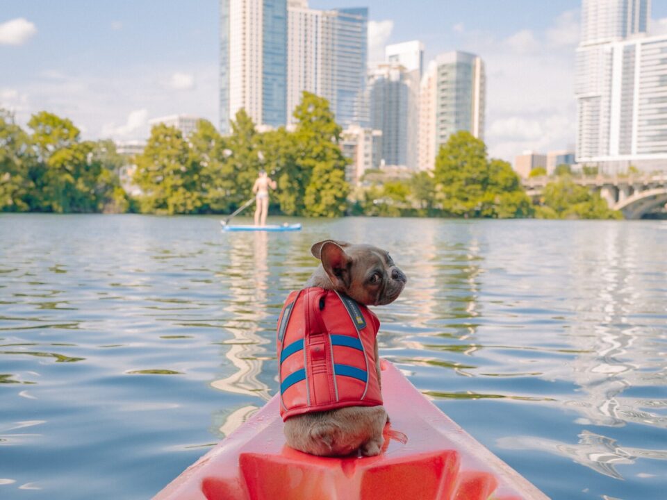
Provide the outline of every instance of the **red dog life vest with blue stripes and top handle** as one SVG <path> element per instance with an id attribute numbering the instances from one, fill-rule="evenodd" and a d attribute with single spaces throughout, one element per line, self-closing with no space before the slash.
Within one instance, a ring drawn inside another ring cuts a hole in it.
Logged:
<path id="1" fill-rule="evenodd" d="M 379 319 L 324 288 L 290 293 L 278 319 L 283 421 L 345 406 L 379 406 L 374 343 Z"/>

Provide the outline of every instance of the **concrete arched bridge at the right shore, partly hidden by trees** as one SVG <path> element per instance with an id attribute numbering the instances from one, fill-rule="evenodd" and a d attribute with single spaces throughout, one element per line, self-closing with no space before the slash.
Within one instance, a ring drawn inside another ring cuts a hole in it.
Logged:
<path id="1" fill-rule="evenodd" d="M 553 178 L 533 177 L 522 180 L 529 197 L 540 197 Z M 630 175 L 627 177 L 573 177 L 573 181 L 600 193 L 609 208 L 620 210 L 626 219 L 641 219 L 667 204 L 667 174 Z"/>

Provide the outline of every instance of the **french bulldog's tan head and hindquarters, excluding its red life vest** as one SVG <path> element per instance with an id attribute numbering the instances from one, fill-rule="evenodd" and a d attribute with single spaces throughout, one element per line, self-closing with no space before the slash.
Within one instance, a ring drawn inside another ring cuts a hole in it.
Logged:
<path id="1" fill-rule="evenodd" d="M 305 287 L 335 290 L 365 306 L 383 306 L 397 299 L 406 283 L 389 253 L 369 244 L 324 240 L 311 253 L 321 261 Z M 354 324 L 350 322 L 350 328 Z M 377 380 L 380 364 L 374 340 Z M 382 431 L 389 421 L 384 406 L 348 406 L 308 412 L 286 419 L 284 433 L 294 449 L 318 456 L 378 455 L 384 444 Z"/>

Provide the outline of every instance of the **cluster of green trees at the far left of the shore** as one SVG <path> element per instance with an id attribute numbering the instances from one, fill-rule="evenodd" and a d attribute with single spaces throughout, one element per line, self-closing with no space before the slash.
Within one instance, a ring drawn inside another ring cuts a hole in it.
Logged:
<path id="1" fill-rule="evenodd" d="M 42 112 L 28 122 L 31 135 L 0 112 L 0 209 L 40 212 L 126 210 L 126 196 L 110 142 L 80 140 L 69 119 Z"/>

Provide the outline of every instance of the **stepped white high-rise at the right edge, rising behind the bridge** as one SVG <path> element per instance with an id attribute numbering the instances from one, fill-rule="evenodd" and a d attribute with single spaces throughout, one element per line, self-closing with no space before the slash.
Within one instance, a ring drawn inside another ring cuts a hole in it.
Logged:
<path id="1" fill-rule="evenodd" d="M 577 47 L 579 163 L 666 168 L 667 36 L 648 36 L 650 0 L 583 0 Z"/>

